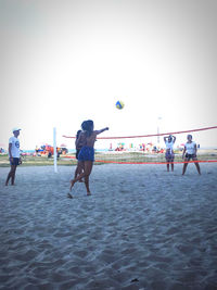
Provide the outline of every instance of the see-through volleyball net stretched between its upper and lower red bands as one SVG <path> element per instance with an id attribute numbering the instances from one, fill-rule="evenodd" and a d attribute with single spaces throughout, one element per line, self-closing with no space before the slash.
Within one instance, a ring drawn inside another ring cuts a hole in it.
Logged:
<path id="1" fill-rule="evenodd" d="M 187 135 L 193 136 L 197 147 L 199 163 L 217 162 L 217 142 L 215 146 L 204 146 L 204 141 L 216 136 L 217 126 L 196 128 L 182 131 L 168 131 L 161 134 L 141 136 L 117 136 L 103 137 L 100 135 L 95 141 L 95 163 L 118 163 L 118 164 L 167 164 L 165 159 L 166 146 L 164 137 L 173 135 L 176 137 L 174 144 L 174 164 L 184 163 L 182 159 Z M 212 133 L 212 134 L 210 134 Z M 74 150 L 66 157 L 76 161 L 75 138 L 74 136 L 63 136 L 72 140 Z M 214 140 L 213 138 L 213 140 Z M 215 140 L 214 140 L 215 142 Z M 189 161 L 188 163 L 194 163 Z"/>

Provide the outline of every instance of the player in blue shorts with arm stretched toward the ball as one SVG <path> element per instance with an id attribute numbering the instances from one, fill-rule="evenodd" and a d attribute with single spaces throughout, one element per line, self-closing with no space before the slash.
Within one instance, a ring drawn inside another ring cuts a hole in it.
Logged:
<path id="1" fill-rule="evenodd" d="M 85 185 L 87 189 L 87 196 L 90 196 L 90 188 L 89 188 L 89 176 L 92 171 L 92 165 L 94 161 L 94 142 L 97 140 L 97 136 L 105 130 L 108 130 L 108 128 L 103 128 L 101 130 L 93 130 L 93 122 L 91 119 L 85 121 L 81 124 L 82 131 L 80 133 L 79 138 L 84 138 L 85 146 L 80 149 L 80 152 L 78 154 L 78 162 L 82 163 L 84 172 L 73 180 L 71 180 L 71 190 L 75 182 L 79 181 L 85 177 Z M 79 142 L 78 138 L 78 142 Z M 68 198 L 72 198 L 72 196 L 68 193 Z"/>

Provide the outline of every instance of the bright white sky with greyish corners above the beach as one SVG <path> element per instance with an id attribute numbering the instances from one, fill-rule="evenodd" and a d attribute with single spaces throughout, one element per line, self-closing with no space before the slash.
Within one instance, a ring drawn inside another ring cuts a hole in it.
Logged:
<path id="1" fill-rule="evenodd" d="M 0 147 L 18 126 L 22 149 L 53 127 L 62 136 L 85 119 L 104 137 L 216 126 L 216 0 L 1 0 Z"/>

